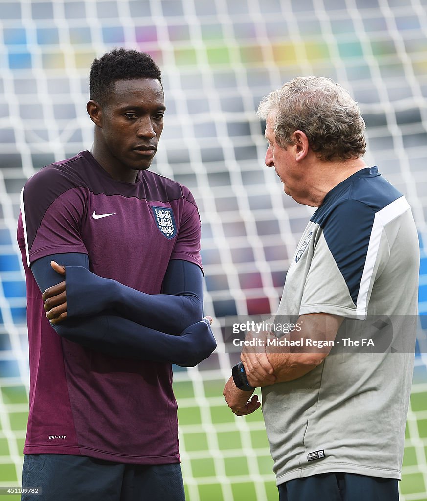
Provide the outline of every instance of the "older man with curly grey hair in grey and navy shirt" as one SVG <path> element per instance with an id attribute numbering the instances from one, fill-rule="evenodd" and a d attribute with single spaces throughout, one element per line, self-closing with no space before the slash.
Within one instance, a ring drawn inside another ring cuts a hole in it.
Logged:
<path id="1" fill-rule="evenodd" d="M 410 206 L 362 160 L 365 124 L 338 84 L 296 78 L 258 116 L 266 165 L 286 194 L 318 208 L 274 319 L 298 329 L 245 348 L 224 396 L 247 415 L 262 387 L 281 501 L 397 501 L 417 313 Z"/>

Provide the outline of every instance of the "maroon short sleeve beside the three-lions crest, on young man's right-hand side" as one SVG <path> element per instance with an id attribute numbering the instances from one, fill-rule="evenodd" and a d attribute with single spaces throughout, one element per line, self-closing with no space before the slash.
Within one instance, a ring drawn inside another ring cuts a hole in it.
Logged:
<path id="1" fill-rule="evenodd" d="M 200 216 L 191 192 L 183 187 L 184 208 L 171 260 L 181 259 L 199 266 L 203 272 L 200 257 Z"/>

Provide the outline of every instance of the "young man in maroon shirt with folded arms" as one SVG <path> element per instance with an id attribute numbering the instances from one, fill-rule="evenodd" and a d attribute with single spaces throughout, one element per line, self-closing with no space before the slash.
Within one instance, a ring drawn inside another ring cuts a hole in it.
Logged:
<path id="1" fill-rule="evenodd" d="M 182 500 L 171 363 L 193 366 L 215 349 L 202 319 L 200 218 L 187 188 L 147 170 L 165 112 L 149 55 L 96 59 L 87 111 L 92 150 L 41 169 L 22 192 L 23 486 L 45 501 Z"/>

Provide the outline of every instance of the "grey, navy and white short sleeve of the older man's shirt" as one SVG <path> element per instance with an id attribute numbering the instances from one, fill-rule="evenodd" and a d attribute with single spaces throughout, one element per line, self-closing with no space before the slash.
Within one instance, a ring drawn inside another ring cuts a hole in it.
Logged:
<path id="1" fill-rule="evenodd" d="M 374 220 L 375 211 L 357 200 L 345 200 L 331 211 L 313 250 L 300 315 L 365 318 L 373 282 L 389 257 L 385 232 L 375 228 Z M 373 247 L 374 254 L 368 252 Z M 369 291 L 363 304 L 362 288 Z"/>

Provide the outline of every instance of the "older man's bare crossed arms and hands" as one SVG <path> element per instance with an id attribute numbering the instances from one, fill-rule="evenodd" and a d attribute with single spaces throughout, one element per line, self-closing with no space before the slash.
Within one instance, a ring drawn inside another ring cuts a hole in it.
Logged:
<path id="1" fill-rule="evenodd" d="M 301 315 L 297 321 L 301 326 L 298 337 L 334 340 L 343 320 L 342 317 L 329 314 Z M 264 333 L 264 339 L 268 336 L 269 333 Z M 267 351 L 259 347 L 256 350 L 245 348 L 240 358 L 249 384 L 256 388 L 304 376 L 323 362 L 330 349 L 330 346 L 325 346 L 311 352 L 307 348 L 296 352 L 293 348 L 278 346 L 270 346 Z M 257 395 L 250 398 L 253 391 L 239 390 L 233 378 L 230 378 L 225 384 L 223 395 L 231 410 L 239 416 L 244 416 L 251 414 L 261 405 Z"/>

